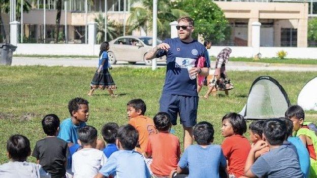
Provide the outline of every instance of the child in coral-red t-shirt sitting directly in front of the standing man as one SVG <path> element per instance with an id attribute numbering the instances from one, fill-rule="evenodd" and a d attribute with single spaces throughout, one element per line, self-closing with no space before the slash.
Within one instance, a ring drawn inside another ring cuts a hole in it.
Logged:
<path id="1" fill-rule="evenodd" d="M 168 177 L 180 158 L 179 139 L 170 133 L 172 123 L 167 113 L 157 113 L 153 121 L 158 133 L 149 136 L 144 157 L 152 157 L 147 165 L 155 177 Z"/>

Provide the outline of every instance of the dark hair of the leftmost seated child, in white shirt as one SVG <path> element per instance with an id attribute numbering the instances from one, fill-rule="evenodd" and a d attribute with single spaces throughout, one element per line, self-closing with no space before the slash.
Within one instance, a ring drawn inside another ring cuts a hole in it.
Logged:
<path id="1" fill-rule="evenodd" d="M 29 140 L 23 135 L 12 135 L 7 141 L 7 151 L 13 161 L 26 161 L 31 154 Z"/>

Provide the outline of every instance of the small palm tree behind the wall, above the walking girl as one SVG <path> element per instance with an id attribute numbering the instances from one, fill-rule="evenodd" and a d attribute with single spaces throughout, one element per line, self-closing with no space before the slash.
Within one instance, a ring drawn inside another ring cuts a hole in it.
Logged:
<path id="1" fill-rule="evenodd" d="M 99 13 L 97 17 L 94 18 L 94 22 L 97 22 L 97 34 L 96 41 L 98 44 L 105 40 L 105 17 L 103 14 Z M 113 40 L 119 35 L 123 34 L 122 25 L 118 24 L 113 20 L 107 19 L 107 39 Z"/>

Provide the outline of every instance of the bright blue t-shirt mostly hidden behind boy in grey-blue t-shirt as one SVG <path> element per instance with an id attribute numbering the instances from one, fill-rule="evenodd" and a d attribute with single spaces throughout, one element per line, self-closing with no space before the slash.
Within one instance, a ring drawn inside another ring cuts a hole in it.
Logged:
<path id="1" fill-rule="evenodd" d="M 299 164 L 301 167 L 302 172 L 304 173 L 304 177 L 308 177 L 309 175 L 309 167 L 310 167 L 310 159 L 309 159 L 309 153 L 302 141 L 297 136 L 290 136 L 288 137 L 288 141 L 292 143 L 298 153 L 299 157 Z"/>

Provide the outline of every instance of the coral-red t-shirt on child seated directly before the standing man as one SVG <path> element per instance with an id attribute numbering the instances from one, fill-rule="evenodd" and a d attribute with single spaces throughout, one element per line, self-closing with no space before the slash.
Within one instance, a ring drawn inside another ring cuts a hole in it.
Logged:
<path id="1" fill-rule="evenodd" d="M 145 152 L 152 155 L 152 172 L 158 176 L 168 176 L 177 168 L 180 158 L 179 139 L 165 132 L 150 135 Z"/>

